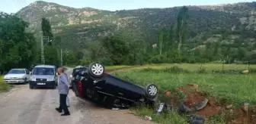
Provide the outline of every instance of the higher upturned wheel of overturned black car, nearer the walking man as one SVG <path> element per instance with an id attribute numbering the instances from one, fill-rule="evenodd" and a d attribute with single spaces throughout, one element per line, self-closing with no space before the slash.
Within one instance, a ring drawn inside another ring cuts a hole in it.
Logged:
<path id="1" fill-rule="evenodd" d="M 89 65 L 89 68 L 88 68 L 88 72 L 90 73 L 90 75 L 97 78 L 103 76 L 104 71 L 105 71 L 105 67 L 99 63 L 92 63 Z"/>

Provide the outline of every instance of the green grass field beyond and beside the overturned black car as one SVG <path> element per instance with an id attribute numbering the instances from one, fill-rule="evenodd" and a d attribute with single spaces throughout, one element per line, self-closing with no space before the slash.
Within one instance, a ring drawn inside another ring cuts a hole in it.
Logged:
<path id="1" fill-rule="evenodd" d="M 178 88 L 187 83 L 195 83 L 199 85 L 200 91 L 206 92 L 210 96 L 214 96 L 222 101 L 223 104 L 234 104 L 235 107 L 240 106 L 244 102 L 250 104 L 256 103 L 256 74 L 233 74 L 233 73 L 166 73 L 161 71 L 167 67 L 182 67 L 184 70 L 194 72 L 198 70 L 201 64 L 153 64 L 141 67 L 130 67 L 130 71 L 114 73 L 115 75 L 126 79 L 129 77 L 133 82 L 139 85 L 146 85 L 154 82 L 158 85 L 159 93 L 163 91 Z M 145 68 L 153 68 L 156 70 L 142 70 Z M 118 67 L 116 67 L 118 68 Z M 222 70 L 222 64 L 203 64 L 206 72 L 211 70 Z M 251 69 L 256 69 L 256 65 L 251 65 Z M 247 70 L 248 65 L 242 64 L 225 64 L 224 70 Z M 160 70 L 160 71 L 159 71 Z M 144 107 L 137 107 L 133 110 L 139 116 L 152 116 L 153 120 L 158 123 L 186 123 L 184 116 L 181 117 L 177 113 L 170 113 L 162 116 L 154 116 L 153 110 Z M 217 120 L 219 119 L 219 120 Z M 225 123 L 223 116 L 213 117 L 206 123 Z"/>

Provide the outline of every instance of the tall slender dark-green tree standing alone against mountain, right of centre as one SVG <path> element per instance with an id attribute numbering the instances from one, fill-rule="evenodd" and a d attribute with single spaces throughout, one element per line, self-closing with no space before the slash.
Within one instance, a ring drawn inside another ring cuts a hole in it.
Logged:
<path id="1" fill-rule="evenodd" d="M 178 13 L 177 17 L 177 30 L 176 35 L 178 38 L 178 51 L 181 52 L 182 44 L 184 43 L 187 35 L 187 7 L 182 7 Z"/>

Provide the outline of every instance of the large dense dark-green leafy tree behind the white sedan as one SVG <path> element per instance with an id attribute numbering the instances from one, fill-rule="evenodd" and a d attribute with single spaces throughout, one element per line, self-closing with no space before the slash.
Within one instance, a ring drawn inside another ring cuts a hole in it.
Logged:
<path id="1" fill-rule="evenodd" d="M 0 13 L 0 71 L 30 67 L 35 58 L 35 38 L 29 23 L 13 14 Z"/>

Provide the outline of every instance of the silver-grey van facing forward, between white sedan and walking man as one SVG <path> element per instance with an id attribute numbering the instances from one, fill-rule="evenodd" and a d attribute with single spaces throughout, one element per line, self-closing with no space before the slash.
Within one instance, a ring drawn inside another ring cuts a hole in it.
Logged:
<path id="1" fill-rule="evenodd" d="M 29 88 L 56 88 L 58 77 L 56 67 L 51 65 L 37 65 L 33 68 Z"/>

